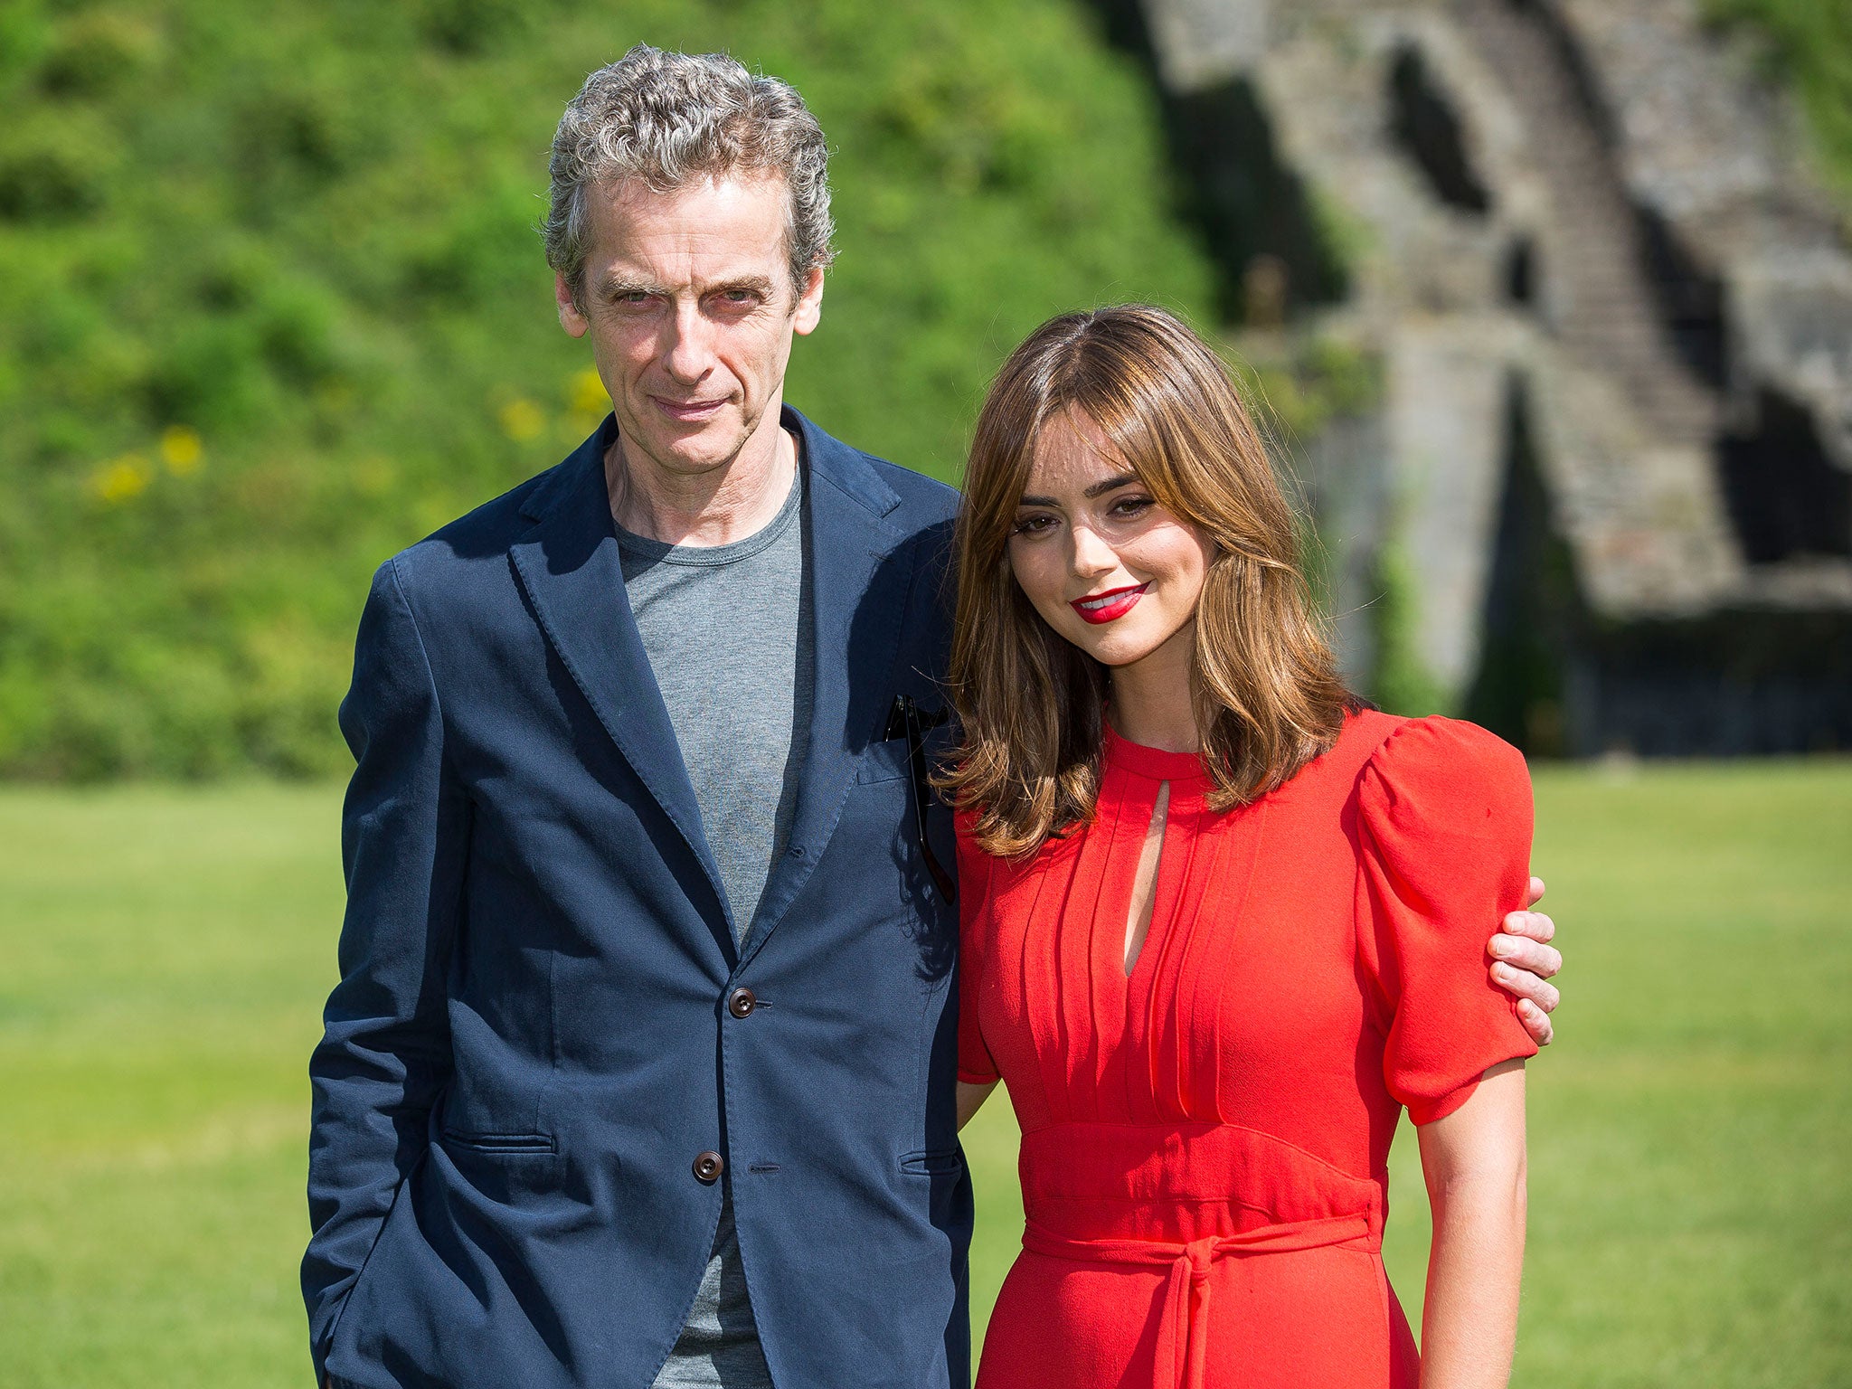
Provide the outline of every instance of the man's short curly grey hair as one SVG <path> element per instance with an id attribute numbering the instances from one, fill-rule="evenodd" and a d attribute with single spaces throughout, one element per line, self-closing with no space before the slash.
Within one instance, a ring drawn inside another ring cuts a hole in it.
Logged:
<path id="1" fill-rule="evenodd" d="M 726 54 L 672 54 L 637 44 L 580 87 L 548 161 L 546 263 L 585 307 L 587 194 L 641 178 L 657 193 L 733 172 L 785 180 L 785 254 L 802 293 L 835 259 L 830 237 L 830 148 L 796 89 L 752 76 Z"/>

